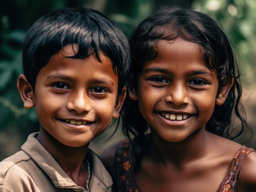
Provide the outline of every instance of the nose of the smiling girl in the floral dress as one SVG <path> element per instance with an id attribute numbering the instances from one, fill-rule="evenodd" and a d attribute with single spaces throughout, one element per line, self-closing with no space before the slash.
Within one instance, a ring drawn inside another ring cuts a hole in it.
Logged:
<path id="1" fill-rule="evenodd" d="M 175 106 L 189 103 L 189 92 L 183 84 L 170 86 L 166 93 L 165 101 L 173 103 Z"/>

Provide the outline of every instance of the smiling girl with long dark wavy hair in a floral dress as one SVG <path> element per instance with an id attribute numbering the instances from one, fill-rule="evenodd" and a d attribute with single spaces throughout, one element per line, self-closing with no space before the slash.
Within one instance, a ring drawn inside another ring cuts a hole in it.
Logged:
<path id="1" fill-rule="evenodd" d="M 255 150 L 229 140 L 247 124 L 238 110 L 239 72 L 220 25 L 191 9 L 161 8 L 139 24 L 130 49 L 129 140 L 102 154 L 115 190 L 255 191 Z M 231 132 L 233 111 L 241 128 Z"/>

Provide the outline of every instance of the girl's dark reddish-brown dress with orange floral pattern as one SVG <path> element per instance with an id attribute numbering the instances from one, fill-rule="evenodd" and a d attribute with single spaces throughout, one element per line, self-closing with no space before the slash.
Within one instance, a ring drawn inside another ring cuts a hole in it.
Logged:
<path id="1" fill-rule="evenodd" d="M 231 161 L 229 170 L 216 192 L 238 192 L 240 173 L 245 159 L 252 148 L 242 146 Z M 133 171 L 132 145 L 129 140 L 123 140 L 115 153 L 117 189 L 118 192 L 139 192 Z"/>

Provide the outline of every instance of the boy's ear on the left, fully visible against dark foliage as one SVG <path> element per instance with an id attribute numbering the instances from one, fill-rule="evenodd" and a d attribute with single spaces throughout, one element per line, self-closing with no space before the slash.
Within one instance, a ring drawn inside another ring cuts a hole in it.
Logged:
<path id="1" fill-rule="evenodd" d="M 32 108 L 34 106 L 33 90 L 30 83 L 27 81 L 27 78 L 23 74 L 18 77 L 17 89 L 20 93 L 24 107 L 27 109 Z"/>

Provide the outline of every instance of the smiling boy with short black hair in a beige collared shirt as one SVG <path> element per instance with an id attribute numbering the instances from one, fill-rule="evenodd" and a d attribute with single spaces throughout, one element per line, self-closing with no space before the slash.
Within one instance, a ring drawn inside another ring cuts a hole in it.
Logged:
<path id="1" fill-rule="evenodd" d="M 125 35 L 93 9 L 61 8 L 27 31 L 17 88 L 40 129 L 0 162 L 1 192 L 103 192 L 112 180 L 92 139 L 117 119 L 130 63 Z"/>

